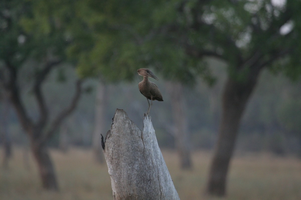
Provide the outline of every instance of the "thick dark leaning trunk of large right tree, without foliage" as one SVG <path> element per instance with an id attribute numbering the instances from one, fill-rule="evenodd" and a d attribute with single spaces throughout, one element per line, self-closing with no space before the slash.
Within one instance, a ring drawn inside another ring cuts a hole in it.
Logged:
<path id="1" fill-rule="evenodd" d="M 238 51 L 239 52 L 239 51 Z M 282 58 L 290 49 L 279 49 L 270 55 L 257 49 L 249 58 L 243 60 L 240 53 L 237 57 L 238 66 L 232 71 L 222 96 L 222 118 L 219 125 L 218 141 L 210 166 L 207 193 L 224 196 L 227 172 L 237 137 L 239 124 L 247 101 L 256 86 L 262 69 Z M 240 80 L 244 77 L 244 80 Z"/>

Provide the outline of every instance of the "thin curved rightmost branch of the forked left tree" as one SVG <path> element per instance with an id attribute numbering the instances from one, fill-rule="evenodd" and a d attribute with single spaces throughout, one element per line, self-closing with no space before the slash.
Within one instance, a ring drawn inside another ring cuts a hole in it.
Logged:
<path id="1" fill-rule="evenodd" d="M 76 92 L 73 96 L 70 106 L 64 109 L 61 113 L 59 113 L 57 117 L 53 120 L 53 122 L 50 125 L 50 129 L 45 133 L 44 137 L 41 140 L 41 143 L 47 142 L 47 140 L 51 136 L 53 136 L 57 128 L 62 124 L 63 120 L 73 112 L 73 110 L 77 106 L 81 94 L 82 94 L 82 80 L 78 80 L 76 82 Z"/>

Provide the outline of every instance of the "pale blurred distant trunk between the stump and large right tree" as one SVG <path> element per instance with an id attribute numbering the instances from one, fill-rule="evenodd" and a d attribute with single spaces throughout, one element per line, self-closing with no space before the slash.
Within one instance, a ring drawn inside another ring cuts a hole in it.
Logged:
<path id="1" fill-rule="evenodd" d="M 191 142 L 189 141 L 188 124 L 185 113 L 183 85 L 180 82 L 169 82 L 166 85 L 172 107 L 172 118 L 175 127 L 175 147 L 180 158 L 180 166 L 182 169 L 191 169 Z"/>

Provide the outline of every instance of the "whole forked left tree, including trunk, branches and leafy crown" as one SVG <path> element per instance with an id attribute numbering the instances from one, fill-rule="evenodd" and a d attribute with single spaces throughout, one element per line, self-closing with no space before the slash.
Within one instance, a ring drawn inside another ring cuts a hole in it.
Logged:
<path id="1" fill-rule="evenodd" d="M 65 32 L 60 29 L 59 18 L 51 14 L 44 1 L 4 1 L 0 4 L 0 83 L 8 94 L 20 124 L 30 140 L 30 147 L 38 164 L 45 189 L 58 190 L 54 166 L 47 142 L 62 121 L 76 108 L 81 94 L 82 81 L 75 84 L 74 96 L 68 106 L 50 118 L 43 83 L 49 73 L 66 58 Z M 48 16 L 41 15 L 47 13 Z M 63 69 L 59 71 L 63 74 Z M 26 109 L 22 85 L 27 76 L 36 100 L 38 117 Z"/>

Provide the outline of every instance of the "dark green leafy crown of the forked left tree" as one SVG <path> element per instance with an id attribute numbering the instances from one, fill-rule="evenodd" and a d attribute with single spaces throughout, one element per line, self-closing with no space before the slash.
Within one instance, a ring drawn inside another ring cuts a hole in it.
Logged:
<path id="1" fill-rule="evenodd" d="M 21 67 L 49 55 L 64 59 L 66 42 L 49 4 L 43 1 L 4 1 L 0 4 L 0 59 Z M 49 14 L 49 15 L 46 15 Z"/>

